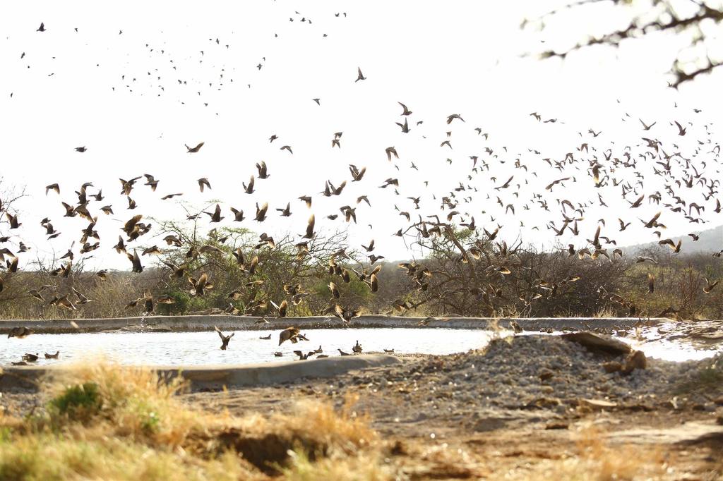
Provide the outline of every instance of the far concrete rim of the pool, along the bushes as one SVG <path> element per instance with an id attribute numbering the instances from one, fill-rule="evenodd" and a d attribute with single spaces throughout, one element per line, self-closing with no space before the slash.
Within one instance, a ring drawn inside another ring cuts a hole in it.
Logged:
<path id="1" fill-rule="evenodd" d="M 3 319 L 0 320 L 0 335 L 7 334 L 16 326 L 25 326 L 32 329 L 35 334 L 71 334 L 77 332 L 104 332 L 104 331 L 161 331 L 161 332 L 194 332 L 210 331 L 213 326 L 226 331 L 232 330 L 270 330 L 285 329 L 288 326 L 297 326 L 301 329 L 344 329 L 351 328 L 432 328 L 445 327 L 448 329 L 489 329 L 494 321 L 500 326 L 509 326 L 510 321 L 517 322 L 527 330 L 538 330 L 552 327 L 553 329 L 630 329 L 641 321 L 638 317 L 627 318 L 484 318 L 484 317 L 448 317 L 444 321 L 429 321 L 420 326 L 423 317 L 401 317 L 372 315 L 352 319 L 345 324 L 333 316 L 285 317 L 268 318 L 268 324 L 257 324 L 261 317 L 256 316 L 148 316 L 123 317 L 112 319 Z M 669 322 L 666 318 L 643 318 L 649 324 Z M 76 326 L 71 324 L 74 322 Z"/>

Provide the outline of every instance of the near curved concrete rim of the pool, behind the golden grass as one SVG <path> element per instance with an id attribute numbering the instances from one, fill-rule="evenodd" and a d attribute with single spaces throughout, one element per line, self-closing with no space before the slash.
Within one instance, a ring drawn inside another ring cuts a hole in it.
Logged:
<path id="1" fill-rule="evenodd" d="M 299 381 L 302 378 L 329 378 L 359 371 L 401 363 L 393 355 L 351 355 L 304 361 L 244 365 L 202 365 L 202 366 L 145 366 L 172 378 L 182 376 L 192 389 L 222 389 L 268 386 Z M 128 366 L 130 368 L 130 366 Z M 0 391 L 7 389 L 35 389 L 38 381 L 54 373 L 63 373 L 72 366 L 12 366 L 0 368 Z"/>

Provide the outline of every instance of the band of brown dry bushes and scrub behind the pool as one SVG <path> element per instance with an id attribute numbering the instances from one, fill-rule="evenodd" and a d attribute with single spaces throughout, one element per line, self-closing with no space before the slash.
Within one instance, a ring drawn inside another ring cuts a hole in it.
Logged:
<path id="1" fill-rule="evenodd" d="M 167 227 L 178 234 L 181 228 Z M 180 234 L 179 234 L 180 235 Z M 228 239 L 221 243 L 223 237 Z M 196 231 L 181 235 L 184 248 L 169 248 L 160 259 L 144 258 L 144 272 L 111 272 L 100 280 L 85 272 L 82 263 L 74 266 L 67 278 L 51 275 L 56 264 L 36 263 L 34 271 L 5 275 L 6 288 L 0 293 L 0 317 L 4 319 L 49 319 L 56 317 L 135 316 L 143 303 L 127 308 L 131 300 L 145 294 L 170 295 L 174 304 L 156 304 L 154 313 L 236 313 L 275 316 L 282 300 L 288 301 L 288 316 L 320 315 L 329 312 L 335 300 L 330 298 L 328 282 L 341 290 L 347 308 L 362 308 L 365 313 L 445 316 L 662 316 L 677 319 L 723 318 L 723 289 L 703 293 L 706 279 L 723 277 L 720 259 L 707 254 L 671 254 L 667 248 L 648 248 L 639 254 L 654 259 L 637 263 L 633 256 L 599 256 L 591 259 L 566 249 L 539 252 L 521 245 L 482 241 L 469 230 L 441 230 L 441 235 L 419 235 L 418 243 L 430 253 L 416 261 L 415 272 L 408 274 L 397 262 L 382 263 L 379 290 L 372 293 L 356 272 L 369 264 L 336 258 L 336 272 L 330 273 L 333 252 L 346 245 L 343 234 L 316 238 L 309 242 L 309 253 L 299 253 L 289 238 L 276 241 L 271 248 L 259 246 L 246 230 L 221 230 L 210 237 Z M 187 247 L 186 247 L 187 246 Z M 214 246 L 197 259 L 188 259 L 188 248 Z M 248 263 L 260 259 L 253 274 L 239 269 L 232 252 L 241 248 Z M 348 251 L 358 259 L 358 253 Z M 612 254 L 612 253 L 609 253 Z M 147 261 L 145 259 L 148 259 Z M 322 261 L 321 259 L 325 259 Z M 187 265 L 181 278 L 169 277 L 161 263 Z M 509 274 L 498 269 L 508 268 Z M 340 272 L 349 273 L 343 282 Z M 213 289 L 203 296 L 189 293 L 189 275 L 208 274 Z M 420 274 L 424 272 L 424 274 Z M 648 293 L 647 276 L 653 274 L 654 293 Z M 256 282 L 254 282 L 256 281 Z M 247 284 L 248 283 L 248 284 Z M 51 287 L 46 298 L 69 294 L 71 288 L 84 293 L 93 302 L 77 306 L 77 311 L 61 310 L 33 298 L 29 292 L 42 285 Z M 284 285 L 300 285 L 303 297 L 298 303 L 284 291 Z M 228 293 L 241 288 L 243 295 L 229 299 Z M 273 303 L 272 303 L 273 302 Z"/>

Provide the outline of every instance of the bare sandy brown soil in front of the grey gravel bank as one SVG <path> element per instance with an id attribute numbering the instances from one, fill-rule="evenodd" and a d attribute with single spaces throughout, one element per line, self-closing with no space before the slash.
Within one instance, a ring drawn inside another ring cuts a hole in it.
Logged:
<path id="1" fill-rule="evenodd" d="M 630 406 L 608 412 L 570 410 L 565 415 L 496 410 L 470 419 L 453 410 L 422 415 L 400 395 L 368 385 L 328 394 L 328 383 L 194 393 L 184 400 L 212 412 L 240 415 L 284 411 L 299 399 L 341 404 L 350 395 L 359 396 L 358 412 L 367 415 L 389 443 L 401 446 L 400 455 L 408 458 L 404 464 L 418 479 L 546 479 L 560 472 L 567 474 L 562 479 L 582 479 L 581 473 L 604 479 L 604 473 L 596 475 L 602 469 L 599 463 L 617 464 L 631 449 L 639 462 L 633 472 L 648 479 L 723 479 L 723 433 L 699 433 L 697 423 L 713 427 L 715 419 L 693 409 L 646 411 Z M 677 430 L 668 432 L 671 426 Z M 632 428 L 638 432 L 625 436 Z M 592 443 L 591 452 L 590 437 L 599 440 L 599 445 Z M 450 470 L 450 458 L 456 472 Z"/>

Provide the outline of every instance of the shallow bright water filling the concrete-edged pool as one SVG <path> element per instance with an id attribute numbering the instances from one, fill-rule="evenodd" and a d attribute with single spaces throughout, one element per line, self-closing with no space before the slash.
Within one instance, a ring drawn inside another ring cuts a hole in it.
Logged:
<path id="1" fill-rule="evenodd" d="M 394 349 L 397 354 L 452 354 L 479 349 L 487 345 L 494 334 L 482 329 L 309 329 L 302 332 L 309 341 L 278 345 L 279 331 L 236 331 L 228 350 L 222 351 L 221 339 L 215 332 L 111 332 L 88 334 L 33 334 L 25 339 L 0 338 L 0 365 L 18 361 L 25 352 L 40 355 L 36 365 L 67 363 L 72 360 L 104 355 L 123 364 L 147 365 L 208 365 L 270 363 L 296 358 L 294 350 L 309 352 L 320 345 L 327 355 L 339 355 L 340 348 L 351 353 L 356 340 L 364 352 Z M 228 333 L 226 333 L 228 334 Z M 271 339 L 260 339 L 271 334 Z M 507 336 L 510 331 L 497 335 Z M 539 334 L 526 332 L 525 334 Z M 643 350 L 649 357 L 664 360 L 698 360 L 713 356 L 723 346 L 712 350 L 696 350 L 680 342 L 656 340 L 644 342 L 622 339 Z M 59 360 L 46 360 L 45 352 L 60 350 Z M 283 357 L 273 355 L 283 352 Z"/>

